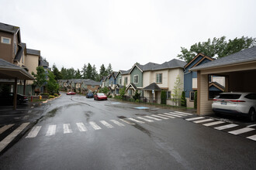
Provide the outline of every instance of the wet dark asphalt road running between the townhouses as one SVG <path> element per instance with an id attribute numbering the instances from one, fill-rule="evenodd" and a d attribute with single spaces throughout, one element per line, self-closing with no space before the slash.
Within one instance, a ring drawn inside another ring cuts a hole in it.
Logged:
<path id="1" fill-rule="evenodd" d="M 42 107 L 44 116 L 35 125 L 41 126 L 40 132 L 35 138 L 25 134 L 9 148 L 0 157 L 0 169 L 256 168 L 255 141 L 193 124 L 185 117 L 144 124 L 119 121 L 170 110 L 138 110 L 134 104 L 65 94 Z M 101 129 L 95 130 L 90 122 Z M 77 123 L 85 124 L 86 131 L 79 131 Z M 64 124 L 70 124 L 71 133 L 64 133 Z M 50 125 L 56 125 L 56 134 L 46 136 Z"/>

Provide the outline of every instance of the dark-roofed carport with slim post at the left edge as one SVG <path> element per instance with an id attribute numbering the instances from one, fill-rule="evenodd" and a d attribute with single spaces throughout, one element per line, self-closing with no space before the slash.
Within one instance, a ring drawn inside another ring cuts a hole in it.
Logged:
<path id="1" fill-rule="evenodd" d="M 31 74 L 29 74 L 26 70 L 22 69 L 21 67 L 16 66 L 12 63 L 9 63 L 9 62 L 5 61 L 4 59 L 0 59 L 0 79 L 14 80 L 13 108 L 16 110 L 16 107 L 17 107 L 17 82 L 18 82 L 18 80 L 34 80 L 33 76 Z"/>

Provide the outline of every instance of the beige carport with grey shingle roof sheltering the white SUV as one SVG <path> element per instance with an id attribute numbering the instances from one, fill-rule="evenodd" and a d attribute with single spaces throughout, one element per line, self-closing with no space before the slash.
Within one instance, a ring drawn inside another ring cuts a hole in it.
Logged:
<path id="1" fill-rule="evenodd" d="M 197 71 L 197 114 L 212 114 L 213 99 L 209 99 L 209 75 L 225 76 L 225 92 L 256 93 L 256 46 L 238 53 L 195 66 Z"/>

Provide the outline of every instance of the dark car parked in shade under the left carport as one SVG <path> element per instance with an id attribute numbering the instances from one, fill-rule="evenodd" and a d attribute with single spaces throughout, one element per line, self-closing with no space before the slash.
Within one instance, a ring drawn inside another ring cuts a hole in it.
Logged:
<path id="1" fill-rule="evenodd" d="M 14 93 L 1 93 L 0 105 L 13 105 L 13 95 Z M 25 104 L 28 100 L 28 97 L 17 93 L 17 104 Z"/>

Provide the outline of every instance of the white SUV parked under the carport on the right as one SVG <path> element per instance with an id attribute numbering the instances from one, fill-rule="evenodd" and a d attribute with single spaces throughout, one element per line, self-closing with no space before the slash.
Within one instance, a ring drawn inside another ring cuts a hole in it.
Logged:
<path id="1" fill-rule="evenodd" d="M 213 99 L 213 112 L 247 116 L 250 121 L 256 121 L 256 93 L 220 93 Z"/>

